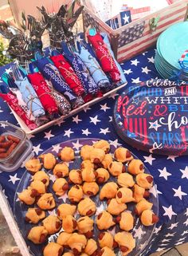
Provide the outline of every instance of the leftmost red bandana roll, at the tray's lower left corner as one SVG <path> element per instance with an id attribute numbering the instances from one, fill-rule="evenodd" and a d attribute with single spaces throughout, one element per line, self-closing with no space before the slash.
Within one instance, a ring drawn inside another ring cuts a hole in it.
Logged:
<path id="1" fill-rule="evenodd" d="M 24 123 L 29 127 L 30 130 L 37 128 L 37 124 L 34 124 L 33 121 L 28 119 L 24 110 L 18 104 L 17 97 L 14 96 L 13 93 L 7 93 L 7 94 L 0 93 L 0 96 L 2 97 L 3 100 L 6 100 L 6 103 L 9 104 L 10 108 L 12 108 L 14 112 L 17 113 L 18 116 L 20 116 L 20 118 L 24 121 Z"/>

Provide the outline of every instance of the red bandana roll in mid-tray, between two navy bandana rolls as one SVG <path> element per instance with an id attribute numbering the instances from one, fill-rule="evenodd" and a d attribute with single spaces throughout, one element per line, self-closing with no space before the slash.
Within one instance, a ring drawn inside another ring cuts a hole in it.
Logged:
<path id="1" fill-rule="evenodd" d="M 69 65 L 69 62 L 65 60 L 65 57 L 62 54 L 59 54 L 50 58 L 53 61 L 54 65 L 57 67 L 57 69 L 59 69 L 62 77 L 69 85 L 70 89 L 72 89 L 72 91 L 76 93 L 77 96 L 82 96 L 85 93 L 84 88 L 81 85 L 80 80 L 76 76 L 76 73 L 74 73 L 71 65 Z"/>

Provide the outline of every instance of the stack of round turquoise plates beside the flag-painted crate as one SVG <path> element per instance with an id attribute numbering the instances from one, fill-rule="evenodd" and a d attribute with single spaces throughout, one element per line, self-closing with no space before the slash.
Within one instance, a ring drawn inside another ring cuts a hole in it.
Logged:
<path id="1" fill-rule="evenodd" d="M 181 73 L 180 78 L 188 80 L 188 69 L 182 69 L 178 62 L 187 49 L 188 22 L 174 24 L 159 36 L 155 68 L 163 78 L 172 79 Z"/>

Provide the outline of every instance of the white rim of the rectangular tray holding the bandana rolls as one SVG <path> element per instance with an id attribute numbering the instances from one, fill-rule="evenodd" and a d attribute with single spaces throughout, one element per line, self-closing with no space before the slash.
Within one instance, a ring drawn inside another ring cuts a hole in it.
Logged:
<path id="1" fill-rule="evenodd" d="M 10 108 L 10 109 L 13 112 L 16 120 L 18 120 L 18 124 L 25 131 L 26 134 L 36 134 L 37 132 L 44 131 L 46 128 L 49 128 L 50 126 L 53 126 L 53 125 L 56 125 L 56 124 L 61 124 L 61 122 L 63 120 L 65 120 L 66 118 L 75 115 L 77 112 L 80 112 L 80 111 L 84 110 L 84 108 L 92 106 L 93 104 L 96 104 L 97 102 L 100 102 L 101 100 L 104 100 L 108 96 L 111 96 L 112 94 L 116 93 L 119 89 L 122 89 L 125 85 L 127 85 L 127 83 L 125 83 L 123 85 L 119 85 L 115 89 L 112 89 L 108 93 L 105 93 L 104 96 L 102 96 L 102 97 L 98 97 L 94 100 L 88 101 L 87 103 L 81 105 L 79 108 L 73 109 L 71 112 L 69 112 L 69 115 L 61 116 L 60 118 L 57 118 L 56 120 L 49 121 L 49 123 L 43 124 L 43 125 L 41 125 L 40 127 L 36 128 L 34 130 L 30 130 L 27 127 L 27 125 L 22 121 L 22 119 L 17 115 L 17 113 L 14 112 L 14 110 L 12 108 Z"/>

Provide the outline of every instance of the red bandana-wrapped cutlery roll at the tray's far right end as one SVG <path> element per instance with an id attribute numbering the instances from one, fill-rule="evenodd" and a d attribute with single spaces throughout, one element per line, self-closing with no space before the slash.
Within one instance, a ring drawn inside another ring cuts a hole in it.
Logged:
<path id="1" fill-rule="evenodd" d="M 95 36 L 88 35 L 88 41 L 92 44 L 92 47 L 96 52 L 96 57 L 100 60 L 100 65 L 104 72 L 109 73 L 113 82 L 118 82 L 120 80 L 119 69 L 109 52 L 108 47 L 104 44 L 100 33 L 96 33 Z"/>

